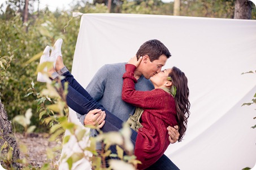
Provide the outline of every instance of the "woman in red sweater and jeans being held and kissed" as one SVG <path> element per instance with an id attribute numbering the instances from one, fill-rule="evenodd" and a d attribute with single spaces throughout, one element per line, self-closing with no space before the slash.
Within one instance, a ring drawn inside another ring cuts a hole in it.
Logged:
<path id="1" fill-rule="evenodd" d="M 49 47 L 46 47 L 46 52 L 44 52 L 46 55 L 41 57 L 40 63 L 53 61 L 54 69 L 49 70 L 52 78 L 55 79 L 60 74 L 65 77 L 62 83 L 69 83 L 68 106 L 80 114 L 87 114 L 93 109 L 102 109 L 106 111 L 105 125 L 101 128 L 102 131 L 118 131 L 122 128 L 122 120 L 94 101 L 89 93 L 76 82 L 63 64 L 60 46 L 61 43 L 57 41 L 57 50 L 52 51 L 54 54 L 51 57 L 47 52 Z M 155 163 L 170 144 L 167 142 L 168 132 L 166 127 L 173 127 L 178 124 L 180 127 L 179 141 L 181 141 L 186 131 L 190 103 L 188 100 L 188 80 L 185 74 L 175 67 L 163 70 L 150 78 L 155 87 L 154 90 L 136 91 L 134 83 L 137 80 L 133 75 L 141 60 L 142 57 L 138 61 L 136 57 L 133 57 L 125 66 L 126 73 L 123 75 L 122 98 L 124 101 L 138 107 L 136 113 L 128 122 L 137 131 L 132 131 L 131 140 L 135 146 L 134 154 L 142 162 L 142 164 L 138 164 L 138 169 L 145 169 Z M 40 75 L 38 75 L 38 80 L 42 81 Z"/>

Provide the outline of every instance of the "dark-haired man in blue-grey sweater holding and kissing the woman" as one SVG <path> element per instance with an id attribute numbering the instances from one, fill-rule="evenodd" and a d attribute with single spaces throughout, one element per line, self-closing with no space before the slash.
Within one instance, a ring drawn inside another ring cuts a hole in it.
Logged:
<path id="1" fill-rule="evenodd" d="M 154 86 L 149 78 L 159 73 L 166 61 L 171 57 L 164 44 L 156 39 L 150 40 L 142 44 L 136 53 L 137 58 L 143 57 L 141 64 L 134 72 L 137 79 L 135 88 L 138 91 L 150 91 Z M 86 90 L 90 93 L 94 100 L 103 105 L 116 117 L 123 121 L 127 121 L 129 115 L 133 115 L 135 107 L 122 100 L 123 74 L 125 73 L 126 63 L 107 64 L 102 66 L 94 75 Z M 77 113 L 77 117 L 82 124 L 96 125 L 101 128 L 104 125 L 105 113 L 97 113 L 90 111 L 86 115 Z M 175 143 L 179 138 L 178 127 L 168 127 L 169 141 Z M 154 165 L 147 169 L 179 169 L 175 164 L 163 155 Z"/>

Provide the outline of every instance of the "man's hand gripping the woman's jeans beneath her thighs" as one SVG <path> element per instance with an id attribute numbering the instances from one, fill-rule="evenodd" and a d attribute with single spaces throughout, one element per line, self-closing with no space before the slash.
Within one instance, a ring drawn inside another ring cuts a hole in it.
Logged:
<path id="1" fill-rule="evenodd" d="M 102 128 L 105 124 L 106 113 L 101 109 L 94 109 L 86 114 L 84 119 L 84 125 L 92 125 L 97 126 L 98 128 Z"/>

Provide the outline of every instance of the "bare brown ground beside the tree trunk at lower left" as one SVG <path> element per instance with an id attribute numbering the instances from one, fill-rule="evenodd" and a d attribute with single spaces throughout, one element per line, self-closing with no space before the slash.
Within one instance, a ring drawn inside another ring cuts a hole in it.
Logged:
<path id="1" fill-rule="evenodd" d="M 52 159 L 47 159 L 46 150 L 53 148 L 57 145 L 61 145 L 60 140 L 49 141 L 49 135 L 47 133 L 31 133 L 27 137 L 23 134 L 15 133 L 16 140 L 20 145 L 27 146 L 28 153 L 24 154 L 20 150 L 20 158 L 26 158 L 30 165 L 33 167 L 42 167 L 45 163 L 52 163 Z M 58 160 L 60 151 L 57 154 L 56 160 Z"/>

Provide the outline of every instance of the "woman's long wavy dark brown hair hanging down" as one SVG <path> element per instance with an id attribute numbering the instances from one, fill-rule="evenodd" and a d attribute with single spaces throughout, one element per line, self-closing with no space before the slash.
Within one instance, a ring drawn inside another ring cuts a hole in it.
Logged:
<path id="1" fill-rule="evenodd" d="M 176 87 L 176 95 L 175 105 L 177 109 L 177 119 L 178 119 L 178 126 L 179 126 L 179 142 L 183 139 L 183 136 L 186 132 L 186 126 L 188 123 L 189 118 L 189 108 L 190 102 L 188 99 L 189 96 L 189 88 L 188 88 L 188 79 L 186 78 L 183 71 L 176 68 L 175 66 L 172 68 L 171 73 L 169 76 L 172 78 L 172 86 Z"/>

